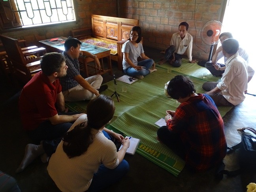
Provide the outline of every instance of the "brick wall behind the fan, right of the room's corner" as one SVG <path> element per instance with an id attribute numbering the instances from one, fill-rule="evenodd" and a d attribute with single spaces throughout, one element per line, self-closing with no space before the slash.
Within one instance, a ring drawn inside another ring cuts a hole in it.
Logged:
<path id="1" fill-rule="evenodd" d="M 120 0 L 120 17 L 138 19 L 143 45 L 166 49 L 179 24 L 186 21 L 193 36 L 192 55 L 208 59 L 211 45 L 201 40 L 201 28 L 209 20 L 221 21 L 222 0 Z M 197 45 L 197 46 L 196 46 Z M 205 53 L 208 52 L 208 53 Z"/>

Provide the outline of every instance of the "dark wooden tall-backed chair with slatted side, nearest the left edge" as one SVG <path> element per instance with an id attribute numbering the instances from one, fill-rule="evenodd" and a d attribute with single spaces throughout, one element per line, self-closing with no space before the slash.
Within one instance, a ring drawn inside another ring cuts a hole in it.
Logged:
<path id="1" fill-rule="evenodd" d="M 4 35 L 0 35 L 0 40 L 6 51 L 5 59 L 11 75 L 27 83 L 35 73 L 41 71 L 40 59 L 41 55 L 46 53 L 45 48 L 36 46 L 21 48 L 18 40 Z M 36 58 L 30 59 L 31 55 L 35 55 Z"/>

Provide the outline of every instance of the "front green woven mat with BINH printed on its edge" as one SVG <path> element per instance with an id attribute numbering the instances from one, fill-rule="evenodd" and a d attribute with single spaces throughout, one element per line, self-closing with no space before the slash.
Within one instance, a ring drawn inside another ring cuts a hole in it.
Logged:
<path id="1" fill-rule="evenodd" d="M 131 85 L 117 81 L 116 90 L 120 94 L 120 102 L 117 102 L 115 96 L 112 97 L 116 110 L 108 128 L 141 139 L 136 152 L 177 176 L 184 167 L 184 161 L 156 140 L 158 127 L 154 123 L 166 115 L 167 109 L 177 108 L 176 100 L 164 95 L 164 84 L 181 73 L 174 70 L 168 73 L 162 66 L 156 66 L 156 68 L 157 72 Z M 194 82 L 197 92 L 204 92 L 201 87 L 206 80 L 195 77 L 190 79 Z M 102 94 L 111 96 L 115 91 L 115 85 L 113 81 L 106 85 L 108 88 Z M 122 92 L 123 85 L 126 85 L 127 92 Z M 73 111 L 86 113 L 87 103 L 86 101 L 68 102 L 66 106 Z M 231 108 L 218 107 L 222 117 Z"/>

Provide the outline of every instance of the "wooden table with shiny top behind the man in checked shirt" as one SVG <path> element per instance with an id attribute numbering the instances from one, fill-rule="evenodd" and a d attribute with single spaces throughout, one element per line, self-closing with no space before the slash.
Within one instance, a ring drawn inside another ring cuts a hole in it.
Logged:
<path id="1" fill-rule="evenodd" d="M 66 40 L 66 37 L 59 37 L 56 41 L 50 41 L 48 40 L 42 40 L 39 41 L 42 46 L 44 46 L 48 52 L 62 52 L 65 50 L 64 48 L 64 41 Z M 83 70 L 85 71 L 85 74 L 87 77 L 90 77 L 92 75 L 102 75 L 104 73 L 109 73 L 109 75 L 113 75 L 112 72 L 112 66 L 111 66 L 111 58 L 110 58 L 110 49 L 106 49 L 104 47 L 99 47 L 96 45 L 91 45 L 88 43 L 82 42 L 81 52 L 84 53 L 85 51 L 91 53 L 92 55 L 96 55 L 98 59 L 100 60 L 100 70 L 98 70 L 96 64 L 94 63 L 94 59 L 87 57 L 87 56 L 79 56 L 78 60 L 81 64 L 83 64 Z M 104 66 L 103 58 L 107 58 L 107 67 Z M 92 63 L 93 61 L 93 63 Z"/>

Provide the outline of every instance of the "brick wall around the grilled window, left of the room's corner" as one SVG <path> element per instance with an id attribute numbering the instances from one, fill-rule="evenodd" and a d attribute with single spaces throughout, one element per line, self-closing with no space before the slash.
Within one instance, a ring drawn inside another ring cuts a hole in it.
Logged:
<path id="1" fill-rule="evenodd" d="M 41 26 L 33 29 L 15 29 L 3 35 L 26 40 L 26 45 L 39 45 L 38 41 L 59 36 L 70 36 L 70 30 L 91 27 L 91 15 L 117 17 L 117 0 L 73 0 L 77 21 L 72 23 Z"/>

